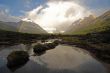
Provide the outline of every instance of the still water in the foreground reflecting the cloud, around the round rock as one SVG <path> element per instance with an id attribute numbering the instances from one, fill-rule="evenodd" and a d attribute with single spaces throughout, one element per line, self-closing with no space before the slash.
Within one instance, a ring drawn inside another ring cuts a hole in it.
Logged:
<path id="1" fill-rule="evenodd" d="M 0 49 L 0 73 L 106 73 L 104 66 L 87 51 L 77 47 L 58 45 L 41 56 L 30 56 L 30 60 L 14 72 L 6 66 L 6 57 L 15 50 L 33 54 L 31 45 L 16 45 Z"/>

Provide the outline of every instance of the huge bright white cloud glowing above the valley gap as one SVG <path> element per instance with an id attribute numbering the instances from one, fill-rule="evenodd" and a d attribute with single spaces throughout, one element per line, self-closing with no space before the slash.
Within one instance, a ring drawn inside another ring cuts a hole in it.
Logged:
<path id="1" fill-rule="evenodd" d="M 44 5 L 26 12 L 26 18 L 39 24 L 47 31 L 55 31 L 60 26 L 68 27 L 74 21 L 90 15 L 84 7 L 74 0 L 48 0 Z M 48 28 L 48 29 L 47 29 Z M 63 28 L 60 31 L 64 31 Z"/>

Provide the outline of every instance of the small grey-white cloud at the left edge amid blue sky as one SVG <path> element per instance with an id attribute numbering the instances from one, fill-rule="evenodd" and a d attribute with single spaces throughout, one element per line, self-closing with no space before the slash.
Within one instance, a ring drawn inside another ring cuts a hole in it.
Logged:
<path id="1" fill-rule="evenodd" d="M 4 22 L 18 22 L 20 21 L 20 17 L 12 16 L 9 14 L 8 9 L 0 9 L 0 21 Z"/>

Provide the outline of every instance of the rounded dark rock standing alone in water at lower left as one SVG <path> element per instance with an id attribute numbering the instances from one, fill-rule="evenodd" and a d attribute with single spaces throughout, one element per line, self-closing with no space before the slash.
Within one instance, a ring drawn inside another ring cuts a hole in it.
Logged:
<path id="1" fill-rule="evenodd" d="M 7 57 L 7 67 L 14 71 L 22 67 L 29 60 L 29 55 L 25 51 L 13 51 Z"/>

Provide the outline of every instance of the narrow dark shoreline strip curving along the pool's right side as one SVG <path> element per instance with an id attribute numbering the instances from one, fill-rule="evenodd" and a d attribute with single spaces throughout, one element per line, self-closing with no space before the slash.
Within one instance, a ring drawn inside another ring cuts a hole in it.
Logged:
<path id="1" fill-rule="evenodd" d="M 102 51 L 102 50 L 99 50 L 99 49 L 96 49 L 96 48 L 93 49 L 93 47 L 91 47 L 89 45 L 82 45 L 82 44 L 73 43 L 73 42 L 62 42 L 61 41 L 60 43 L 61 44 L 66 44 L 66 45 L 69 45 L 69 46 L 74 46 L 75 45 L 75 47 L 79 47 L 79 48 L 82 48 L 82 49 L 88 51 L 93 58 L 95 58 L 100 63 L 102 63 L 102 65 L 106 68 L 107 73 L 110 73 L 110 63 L 108 63 L 108 61 L 100 58 L 100 57 L 102 57 L 102 54 L 105 53 L 105 51 Z"/>

